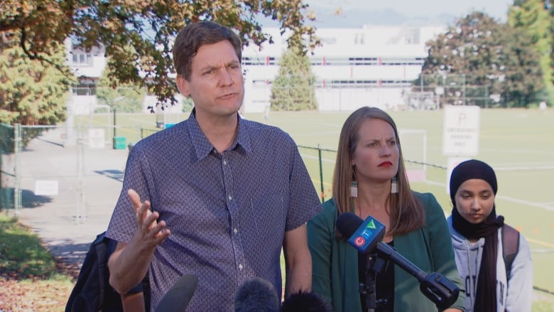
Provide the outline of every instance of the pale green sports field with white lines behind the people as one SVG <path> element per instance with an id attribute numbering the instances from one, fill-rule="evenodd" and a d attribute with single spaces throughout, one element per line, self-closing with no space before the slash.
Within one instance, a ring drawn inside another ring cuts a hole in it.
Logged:
<path id="1" fill-rule="evenodd" d="M 390 112 L 398 129 L 425 131 L 426 177 L 423 182 L 412 182 L 413 189 L 431 192 L 442 208 L 450 214 L 452 205 L 446 193 L 448 158 L 442 154 L 443 111 Z M 303 154 L 314 185 L 330 195 L 333 151 L 322 151 L 322 173 L 317 150 L 337 149 L 337 141 L 344 119 L 349 113 L 271 112 L 268 123 L 287 131 L 295 139 Z M 246 119 L 264 122 L 263 114 L 244 114 Z M 188 113 L 171 117 L 172 122 L 188 118 Z M 139 139 L 137 127 L 156 131 L 153 114 L 118 114 L 118 136 L 128 142 Z M 102 125 L 109 123 L 107 115 L 86 117 L 75 124 Z M 144 131 L 144 134 L 149 132 Z M 417 135 L 416 135 L 417 136 Z M 413 136 L 413 137 L 416 137 Z M 402 139 L 402 138 L 401 138 Z M 410 140 L 401 141 L 408 146 Z M 421 151 L 404 150 L 406 160 L 421 161 Z M 554 111 L 552 109 L 482 109 L 479 158 L 491 164 L 499 180 L 496 210 L 506 222 L 521 230 L 531 246 L 534 267 L 533 284 L 554 293 Z"/>

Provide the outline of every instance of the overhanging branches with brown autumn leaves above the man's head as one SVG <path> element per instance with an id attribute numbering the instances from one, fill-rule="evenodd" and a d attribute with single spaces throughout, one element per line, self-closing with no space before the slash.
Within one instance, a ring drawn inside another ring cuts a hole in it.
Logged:
<path id="1" fill-rule="evenodd" d="M 2 0 L 0 33 L 16 33 L 27 58 L 60 70 L 63 62 L 48 48 L 52 43 L 69 37 L 85 50 L 104 45 L 110 75 L 121 83 L 148 86 L 161 103 L 174 104 L 176 87 L 168 73 L 175 72 L 171 48 L 180 28 L 213 20 L 236 29 L 245 45 L 272 42 L 258 16 L 281 21 L 282 33 L 292 33 L 288 45 L 303 53 L 318 44 L 315 29 L 305 25 L 315 16 L 301 0 Z"/>

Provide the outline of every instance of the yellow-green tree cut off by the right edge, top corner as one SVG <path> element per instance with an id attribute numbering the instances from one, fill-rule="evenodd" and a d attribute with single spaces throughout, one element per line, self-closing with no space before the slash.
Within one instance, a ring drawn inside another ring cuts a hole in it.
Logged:
<path id="1" fill-rule="evenodd" d="M 548 10 L 549 1 L 516 0 L 511 6 L 508 23 L 512 28 L 521 29 L 531 36 L 541 70 L 543 72 L 543 99 L 554 101 L 554 9 Z"/>

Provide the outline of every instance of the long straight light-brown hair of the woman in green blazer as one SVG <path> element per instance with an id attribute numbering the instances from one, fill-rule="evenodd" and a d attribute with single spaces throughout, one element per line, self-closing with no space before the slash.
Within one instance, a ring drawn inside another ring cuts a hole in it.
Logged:
<path id="1" fill-rule="evenodd" d="M 391 216 L 391 235 L 402 235 L 423 227 L 425 213 L 420 200 L 410 189 L 406 176 L 406 167 L 402 156 L 402 147 L 398 138 L 398 129 L 389 114 L 376 107 L 361 107 L 346 119 L 340 131 L 337 161 L 333 174 L 333 200 L 339 213 L 352 212 L 350 185 L 355 181 L 354 168 L 351 161 L 359 140 L 359 128 L 366 119 L 381 119 L 393 127 L 398 144 L 398 193 L 389 195 L 389 214 Z"/>

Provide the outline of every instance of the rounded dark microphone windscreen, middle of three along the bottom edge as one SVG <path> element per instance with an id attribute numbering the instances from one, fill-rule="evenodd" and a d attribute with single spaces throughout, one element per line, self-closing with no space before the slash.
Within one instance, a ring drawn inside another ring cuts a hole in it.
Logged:
<path id="1" fill-rule="evenodd" d="M 280 306 L 273 284 L 259 277 L 241 284 L 234 296 L 234 312 L 278 312 Z"/>

